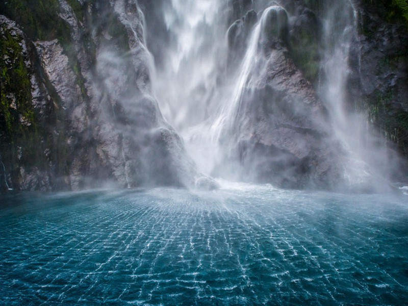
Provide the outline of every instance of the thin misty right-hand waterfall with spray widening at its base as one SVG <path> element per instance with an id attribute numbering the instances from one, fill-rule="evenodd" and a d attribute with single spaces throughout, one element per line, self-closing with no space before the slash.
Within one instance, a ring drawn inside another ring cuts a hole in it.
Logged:
<path id="1" fill-rule="evenodd" d="M 366 184 L 370 180 L 371 184 L 377 180 L 382 184 L 382 179 L 387 179 L 389 167 L 393 164 L 389 160 L 390 151 L 384 141 L 378 141 L 370 133 L 366 114 L 347 110 L 356 101 L 360 102 L 359 97 L 350 101 L 350 97 L 346 96 L 347 80 L 351 73 L 350 48 L 353 41 L 357 41 L 357 27 L 358 12 L 352 1 L 331 2 L 326 7 L 322 50 L 324 81 L 319 94 L 329 111 L 335 138 L 348 152 L 344 175 L 353 186 Z M 360 62 L 359 59 L 358 63 Z M 360 67 L 358 70 L 360 71 Z M 373 177 L 375 180 L 372 180 Z"/>

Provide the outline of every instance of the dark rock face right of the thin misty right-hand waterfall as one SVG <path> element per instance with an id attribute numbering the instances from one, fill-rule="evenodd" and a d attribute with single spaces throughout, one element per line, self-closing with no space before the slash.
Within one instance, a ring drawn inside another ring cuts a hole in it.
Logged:
<path id="1" fill-rule="evenodd" d="M 350 100 L 358 96 L 370 121 L 408 158 L 408 30 L 386 20 L 382 3 L 359 1 L 360 28 L 350 67 Z M 354 98 L 354 99 L 353 99 Z"/>

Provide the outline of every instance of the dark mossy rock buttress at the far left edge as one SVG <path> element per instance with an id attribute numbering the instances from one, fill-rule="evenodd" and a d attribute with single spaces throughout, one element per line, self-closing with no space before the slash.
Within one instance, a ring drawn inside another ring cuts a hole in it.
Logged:
<path id="1" fill-rule="evenodd" d="M 51 186 L 49 170 L 55 164 L 43 152 L 56 137 L 42 127 L 55 117 L 39 77 L 35 47 L 16 23 L 4 16 L 0 16 L 0 40 L 3 57 L 0 62 L 0 184 L 2 189 L 21 185 L 48 190 Z M 32 163 L 33 160 L 36 163 Z"/>

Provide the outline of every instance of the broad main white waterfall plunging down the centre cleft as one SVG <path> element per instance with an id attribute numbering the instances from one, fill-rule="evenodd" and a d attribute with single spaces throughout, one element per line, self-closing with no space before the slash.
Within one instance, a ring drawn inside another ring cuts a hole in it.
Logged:
<path id="1" fill-rule="evenodd" d="M 172 43 L 165 50 L 163 67 L 152 84 L 164 117 L 185 139 L 187 150 L 201 172 L 214 167 L 217 143 L 209 122 L 223 103 L 227 45 L 218 0 L 172 0 L 164 8 Z M 222 83 L 222 84 L 221 84 Z"/>

